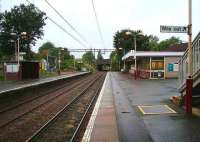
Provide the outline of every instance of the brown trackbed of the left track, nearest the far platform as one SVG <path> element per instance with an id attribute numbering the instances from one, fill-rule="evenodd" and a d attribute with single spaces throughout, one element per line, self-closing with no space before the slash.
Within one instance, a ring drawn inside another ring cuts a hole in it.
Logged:
<path id="1" fill-rule="evenodd" d="M 27 113 L 32 112 L 33 110 L 39 108 L 40 106 L 44 105 L 45 103 L 48 103 L 48 102 L 60 97 L 62 94 L 68 92 L 69 90 L 71 90 L 75 87 L 78 87 L 78 86 L 82 86 L 83 83 L 85 83 L 90 78 L 92 78 L 92 77 L 85 78 L 81 81 L 79 80 L 76 83 L 72 83 L 67 88 L 65 88 L 66 86 L 63 85 L 62 87 L 56 88 L 56 90 L 54 90 L 54 92 L 52 92 L 51 94 L 49 94 L 50 93 L 50 91 L 49 91 L 49 93 L 47 93 L 43 96 L 37 96 L 31 100 L 27 100 L 23 103 L 17 104 L 16 106 L 7 108 L 6 110 L 0 112 L 0 116 L 1 116 L 0 117 L 0 128 L 12 123 L 13 121 L 19 119 L 20 117 L 23 117 Z M 41 99 L 42 99 L 42 101 L 41 101 Z M 30 104 L 32 104 L 32 105 L 30 106 Z"/>

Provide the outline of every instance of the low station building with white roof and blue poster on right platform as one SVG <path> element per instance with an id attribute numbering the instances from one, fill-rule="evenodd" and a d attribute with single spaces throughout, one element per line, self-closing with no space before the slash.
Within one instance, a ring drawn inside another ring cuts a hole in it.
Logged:
<path id="1" fill-rule="evenodd" d="M 137 78 L 178 78 L 178 62 L 186 48 L 187 43 L 174 45 L 166 51 L 131 50 L 122 57 L 122 60 L 125 60 L 126 70 Z"/>

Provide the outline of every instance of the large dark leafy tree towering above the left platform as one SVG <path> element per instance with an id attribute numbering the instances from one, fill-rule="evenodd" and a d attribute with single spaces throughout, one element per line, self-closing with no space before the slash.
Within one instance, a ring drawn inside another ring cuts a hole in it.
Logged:
<path id="1" fill-rule="evenodd" d="M 46 14 L 38 10 L 33 4 L 14 6 L 10 11 L 2 13 L 1 27 L 1 49 L 4 55 L 12 55 L 14 46 L 9 42 L 12 38 L 10 33 L 26 32 L 25 39 L 20 37 L 20 51 L 27 53 L 27 59 L 31 58 L 31 45 L 43 36 Z M 15 39 L 16 40 L 16 39 Z"/>

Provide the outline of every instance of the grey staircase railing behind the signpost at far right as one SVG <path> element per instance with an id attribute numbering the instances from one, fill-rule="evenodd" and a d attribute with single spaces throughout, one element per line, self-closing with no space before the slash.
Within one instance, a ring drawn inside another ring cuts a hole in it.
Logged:
<path id="1" fill-rule="evenodd" d="M 192 76 L 193 79 L 200 72 L 200 33 L 195 37 L 192 43 Z M 179 87 L 185 85 L 188 76 L 188 50 L 185 51 L 183 57 L 179 60 Z"/>

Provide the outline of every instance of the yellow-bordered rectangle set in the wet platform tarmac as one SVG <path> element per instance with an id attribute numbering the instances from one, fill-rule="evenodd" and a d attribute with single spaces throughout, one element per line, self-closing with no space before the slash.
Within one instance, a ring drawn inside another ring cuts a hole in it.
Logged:
<path id="1" fill-rule="evenodd" d="M 145 106 L 138 106 L 138 108 L 143 114 L 176 113 L 176 111 L 174 111 L 168 105 L 145 105 Z"/>

